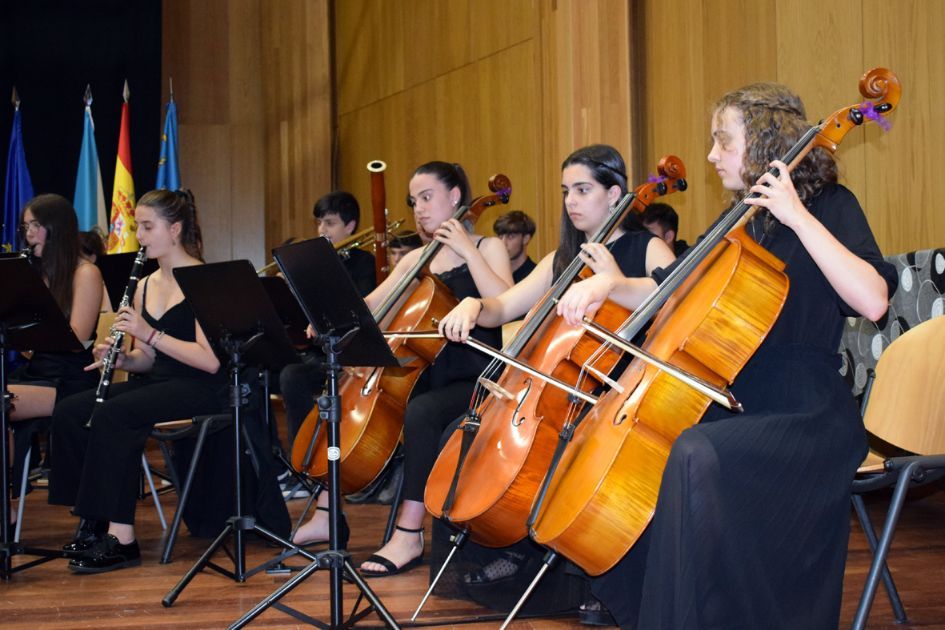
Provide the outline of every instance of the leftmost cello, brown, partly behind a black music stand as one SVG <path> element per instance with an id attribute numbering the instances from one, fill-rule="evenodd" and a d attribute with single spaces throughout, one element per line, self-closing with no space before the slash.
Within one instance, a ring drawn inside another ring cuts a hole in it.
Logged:
<path id="1" fill-rule="evenodd" d="M 489 178 L 489 190 L 491 194 L 477 197 L 469 206 L 461 206 L 452 218 L 475 223 L 487 208 L 509 202 L 512 184 L 505 175 L 496 174 Z M 374 311 L 376 322 L 380 324 L 395 313 L 387 328 L 413 331 L 430 326 L 456 305 L 450 291 L 428 270 L 442 245 L 432 241 L 424 247 L 416 264 Z M 415 280 L 419 280 L 416 286 Z M 400 359 L 401 367 L 352 370 L 344 376 L 339 388 L 342 399 L 341 491 L 345 494 L 367 487 L 394 455 L 403 433 L 404 411 L 410 394 L 423 370 L 446 345 L 446 340 L 391 337 L 388 343 Z M 318 409 L 312 409 L 292 445 L 292 465 L 312 477 L 324 479 L 328 474 L 328 444 L 321 427 Z"/>

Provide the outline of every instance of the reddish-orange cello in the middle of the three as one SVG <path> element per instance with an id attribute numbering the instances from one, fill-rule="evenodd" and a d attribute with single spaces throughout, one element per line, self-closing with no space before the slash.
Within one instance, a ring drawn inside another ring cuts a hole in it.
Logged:
<path id="1" fill-rule="evenodd" d="M 624 196 L 590 242 L 607 242 L 630 208 L 642 212 L 658 196 L 685 190 L 685 167 L 679 158 L 664 157 L 658 170 L 659 178 Z M 582 271 L 589 269 L 576 257 L 526 316 L 504 354 L 560 382 L 580 383 L 583 392 L 590 392 L 607 379 L 621 353 L 602 349 L 599 341 L 555 315 L 557 300 Z M 607 302 L 596 321 L 615 326 L 627 315 Z M 599 360 L 588 374 L 582 365 L 592 356 Z M 569 405 L 566 390 L 515 367 L 492 384 L 500 369 L 494 362 L 480 379 L 472 411 L 440 452 L 424 494 L 430 513 L 490 547 L 507 546 L 527 535 L 526 517 L 561 428 L 560 410 Z"/>

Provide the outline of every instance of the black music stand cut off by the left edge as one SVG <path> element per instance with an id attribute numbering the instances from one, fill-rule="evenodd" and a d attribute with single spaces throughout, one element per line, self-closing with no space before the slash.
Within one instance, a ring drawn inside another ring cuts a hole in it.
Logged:
<path id="1" fill-rule="evenodd" d="M 66 321 L 43 279 L 25 257 L 0 259 L 0 578 L 37 564 L 64 557 L 62 551 L 24 547 L 10 540 L 10 461 L 7 440 L 11 394 L 7 389 L 7 350 L 70 352 L 82 344 Z M 21 501 L 25 497 L 20 497 Z M 39 556 L 13 568 L 13 556 Z"/>

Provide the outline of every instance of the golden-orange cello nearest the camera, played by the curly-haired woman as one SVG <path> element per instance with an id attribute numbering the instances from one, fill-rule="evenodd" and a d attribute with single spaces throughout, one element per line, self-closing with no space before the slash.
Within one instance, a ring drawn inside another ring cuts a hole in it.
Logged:
<path id="1" fill-rule="evenodd" d="M 859 87 L 867 100 L 805 133 L 782 159 L 789 170 L 814 148 L 834 152 L 851 129 L 880 120 L 898 105 L 901 87 L 889 70 L 867 72 Z M 731 383 L 774 325 L 788 291 L 784 264 L 745 231 L 754 211 L 744 200 L 729 210 L 640 305 L 619 337 L 631 338 L 655 316 L 644 346 L 650 353 L 710 382 Z M 619 384 L 622 392 L 604 394 L 576 427 L 549 472 L 545 499 L 536 503 L 530 524 L 536 542 L 591 575 L 613 567 L 642 535 L 674 440 L 710 404 L 660 368 L 638 361 Z"/>

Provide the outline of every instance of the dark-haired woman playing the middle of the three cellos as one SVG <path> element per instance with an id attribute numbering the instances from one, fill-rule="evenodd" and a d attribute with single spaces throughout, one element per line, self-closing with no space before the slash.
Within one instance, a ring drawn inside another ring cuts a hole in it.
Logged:
<path id="1" fill-rule="evenodd" d="M 623 158 L 611 146 L 587 146 L 569 155 L 561 165 L 558 249 L 545 256 L 528 276 L 501 295 L 463 300 L 443 318 L 440 331 L 453 341 L 462 341 L 477 326 L 499 326 L 522 317 L 541 300 L 558 275 L 577 256 L 594 271 L 594 275 L 573 284 L 561 298 L 558 313 L 569 323 L 580 321 L 585 313 L 596 311 L 608 296 L 623 303 L 623 292 L 628 286 L 640 291 L 646 289 L 640 289 L 638 285 L 655 289 L 656 282 L 649 275 L 674 260 L 672 251 L 659 238 L 625 219 L 607 243 L 587 243 L 604 224 L 614 205 L 626 194 L 625 173 Z M 630 226 L 636 229 L 629 229 Z M 636 284 L 630 285 L 628 278 L 634 278 Z M 467 585 L 477 587 L 477 593 L 483 598 L 481 601 L 492 600 L 487 592 L 492 582 L 501 582 L 502 589 L 514 592 L 515 585 L 508 584 L 506 578 L 518 571 L 526 556 L 533 555 L 533 550 L 534 545 L 523 542 L 500 550 L 497 557 L 493 550 L 467 543 L 465 564 L 479 564 L 481 568 L 463 576 L 463 579 Z"/>

